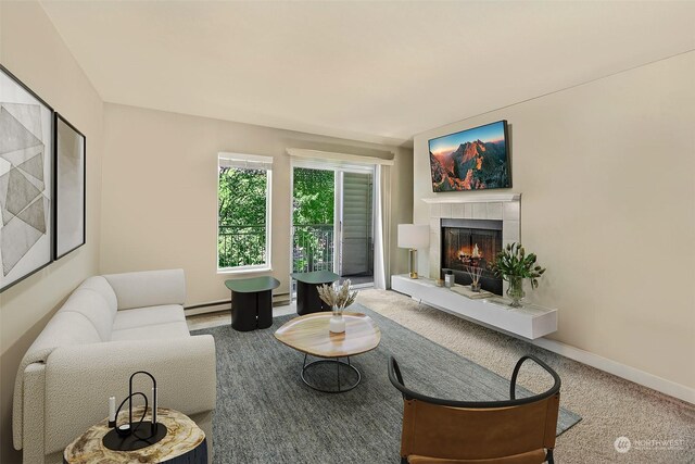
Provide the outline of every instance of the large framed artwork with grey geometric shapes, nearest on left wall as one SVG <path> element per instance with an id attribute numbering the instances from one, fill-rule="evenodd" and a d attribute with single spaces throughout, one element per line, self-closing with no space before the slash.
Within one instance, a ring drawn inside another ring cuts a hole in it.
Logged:
<path id="1" fill-rule="evenodd" d="M 0 291 L 53 259 L 53 109 L 0 65 Z"/>

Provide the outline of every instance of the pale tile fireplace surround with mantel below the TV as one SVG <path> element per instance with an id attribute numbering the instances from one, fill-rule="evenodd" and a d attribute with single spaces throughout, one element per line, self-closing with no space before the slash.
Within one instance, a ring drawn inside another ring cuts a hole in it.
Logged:
<path id="1" fill-rule="evenodd" d="M 521 193 L 489 193 L 424 198 L 430 205 L 430 278 L 439 278 L 442 260 L 441 220 L 502 221 L 502 246 L 521 241 Z M 506 289 L 506 281 L 505 289 Z"/>

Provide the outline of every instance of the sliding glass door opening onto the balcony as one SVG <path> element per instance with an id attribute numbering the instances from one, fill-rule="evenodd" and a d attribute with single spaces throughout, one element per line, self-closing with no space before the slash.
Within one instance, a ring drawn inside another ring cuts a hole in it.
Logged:
<path id="1" fill-rule="evenodd" d="M 372 284 L 374 167 L 311 163 L 292 174 L 292 272 Z"/>

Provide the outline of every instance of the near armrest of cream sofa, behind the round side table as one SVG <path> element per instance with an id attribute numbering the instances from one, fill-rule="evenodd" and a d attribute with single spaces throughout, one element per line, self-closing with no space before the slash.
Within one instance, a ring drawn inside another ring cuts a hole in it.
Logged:
<path id="1" fill-rule="evenodd" d="M 210 335 L 56 348 L 46 363 L 46 453 L 64 449 L 104 419 L 109 397 L 121 403 L 137 371 L 156 378 L 161 407 L 187 415 L 214 410 L 215 366 L 215 341 Z M 134 391 L 148 397 L 151 387 L 147 376 L 134 381 Z"/>

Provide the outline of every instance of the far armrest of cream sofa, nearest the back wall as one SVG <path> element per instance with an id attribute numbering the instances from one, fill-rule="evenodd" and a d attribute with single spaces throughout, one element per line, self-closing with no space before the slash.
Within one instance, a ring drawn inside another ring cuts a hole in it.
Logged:
<path id="1" fill-rule="evenodd" d="M 118 310 L 184 304 L 186 301 L 184 269 L 109 274 L 103 277 L 116 293 Z"/>

